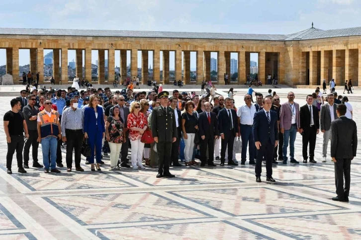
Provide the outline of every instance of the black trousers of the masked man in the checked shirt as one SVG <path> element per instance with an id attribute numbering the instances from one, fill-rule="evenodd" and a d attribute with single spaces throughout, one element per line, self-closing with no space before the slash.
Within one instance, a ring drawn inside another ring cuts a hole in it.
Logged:
<path id="1" fill-rule="evenodd" d="M 83 130 L 65 129 L 65 136 L 67 137 L 67 168 L 72 168 L 73 165 L 73 149 L 75 167 L 80 167 L 80 160 L 82 158 L 81 148 L 83 142 Z"/>

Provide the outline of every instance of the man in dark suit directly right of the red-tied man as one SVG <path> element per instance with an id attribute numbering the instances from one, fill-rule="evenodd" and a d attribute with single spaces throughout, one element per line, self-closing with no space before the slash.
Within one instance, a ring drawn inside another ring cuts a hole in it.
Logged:
<path id="1" fill-rule="evenodd" d="M 218 129 L 221 136 L 221 166 L 224 166 L 228 145 L 228 165 L 238 165 L 232 160 L 234 138 L 238 137 L 237 113 L 231 109 L 233 99 L 225 99 L 225 108 L 218 113 Z"/>

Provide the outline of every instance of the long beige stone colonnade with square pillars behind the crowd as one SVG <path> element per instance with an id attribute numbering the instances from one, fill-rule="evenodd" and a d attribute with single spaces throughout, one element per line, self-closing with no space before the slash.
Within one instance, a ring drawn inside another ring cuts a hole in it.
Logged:
<path id="1" fill-rule="evenodd" d="M 64 30 L 66 31 L 66 30 Z M 86 30 L 84 30 L 86 31 Z M 0 31 L 1 33 L 1 31 Z M 247 34 L 246 34 L 247 35 Z M 121 80 L 126 78 L 126 53 L 130 51 L 132 78 L 138 72 L 138 51 L 142 54 L 143 84 L 148 78 L 148 51 L 153 52 L 153 79 L 160 82 L 160 54 L 163 56 L 163 82 L 169 82 L 170 52 L 175 53 L 175 79 L 190 82 L 190 52 L 196 52 L 196 82 L 210 79 L 210 53 L 218 56 L 218 83 L 230 69 L 230 54 L 238 54 L 238 84 L 244 84 L 250 73 L 250 53 L 258 53 L 258 78 L 266 82 L 267 75 L 277 75 L 278 83 L 289 85 L 322 85 L 322 80 L 334 78 L 338 85 L 353 79 L 361 81 L 361 36 L 345 36 L 310 40 L 242 40 L 170 37 L 114 37 L 114 36 L 54 36 L 0 34 L 0 48 L 6 49 L 6 72 L 19 75 L 19 49 L 30 49 L 30 71 L 40 72 L 43 81 L 44 49 L 54 51 L 56 83 L 68 84 L 68 51 L 76 50 L 76 74 L 91 79 L 91 50 L 98 50 L 98 82 L 105 83 L 104 54 L 108 53 L 108 83 L 112 84 L 115 50 L 120 50 Z M 83 76 L 83 50 L 85 76 Z M 183 54 L 183 61 L 182 59 Z M 183 62 L 183 63 L 182 63 Z M 183 66 L 182 66 L 183 64 Z M 183 77 L 182 77 L 183 67 Z M 14 82 L 17 81 L 14 78 Z M 266 82 L 267 83 L 267 82 Z"/>

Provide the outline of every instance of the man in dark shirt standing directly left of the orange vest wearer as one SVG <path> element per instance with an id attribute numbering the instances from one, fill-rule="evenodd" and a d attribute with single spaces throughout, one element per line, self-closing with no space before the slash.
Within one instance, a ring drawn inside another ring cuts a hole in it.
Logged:
<path id="1" fill-rule="evenodd" d="M 26 121 L 27 129 L 29 132 L 29 138 L 24 146 L 24 168 L 29 168 L 29 151 L 32 146 L 32 156 L 33 156 L 33 167 L 43 167 L 39 164 L 38 161 L 38 127 L 37 119 L 39 108 L 35 106 L 36 96 L 30 94 L 28 96 L 28 104 L 23 108 L 22 112 Z"/>

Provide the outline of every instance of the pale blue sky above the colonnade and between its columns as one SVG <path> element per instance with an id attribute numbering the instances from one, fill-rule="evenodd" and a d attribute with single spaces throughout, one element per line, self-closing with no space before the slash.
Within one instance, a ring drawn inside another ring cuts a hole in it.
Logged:
<path id="1" fill-rule="evenodd" d="M 357 0 L 4 0 L 0 26 L 288 34 L 311 27 L 312 21 L 325 30 L 361 26 L 360 12 Z M 75 53 L 69 53 L 69 60 L 73 58 Z M 257 55 L 251 58 L 257 61 Z M 96 59 L 93 51 L 92 62 Z M 19 62 L 29 63 L 27 50 L 20 51 Z M 0 49 L 4 64 L 5 51 Z"/>

